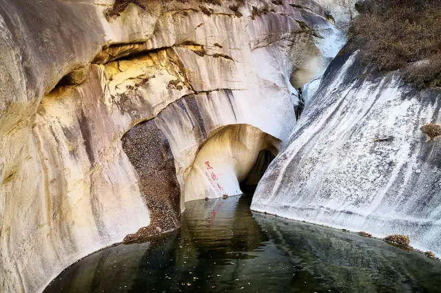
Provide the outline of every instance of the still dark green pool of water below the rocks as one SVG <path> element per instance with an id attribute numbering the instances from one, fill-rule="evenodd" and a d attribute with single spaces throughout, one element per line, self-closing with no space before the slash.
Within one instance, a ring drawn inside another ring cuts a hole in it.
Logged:
<path id="1" fill-rule="evenodd" d="M 187 202 L 180 230 L 96 252 L 45 292 L 441 292 L 441 262 L 376 239 Z"/>

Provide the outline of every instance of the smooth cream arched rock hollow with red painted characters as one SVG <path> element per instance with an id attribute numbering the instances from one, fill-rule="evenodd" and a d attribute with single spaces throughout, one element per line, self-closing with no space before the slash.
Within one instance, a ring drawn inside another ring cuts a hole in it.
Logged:
<path id="1" fill-rule="evenodd" d="M 280 140 L 249 124 L 221 127 L 196 155 L 185 180 L 185 202 L 242 194 L 239 184 L 255 169 L 260 151 L 277 155 L 279 146 Z"/>

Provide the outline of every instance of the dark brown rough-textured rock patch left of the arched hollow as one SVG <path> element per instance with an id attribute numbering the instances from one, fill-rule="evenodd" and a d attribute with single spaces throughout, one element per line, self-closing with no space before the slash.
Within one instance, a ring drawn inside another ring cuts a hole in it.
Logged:
<path id="1" fill-rule="evenodd" d="M 123 138 L 123 150 L 139 175 L 140 188 L 150 210 L 150 225 L 124 241 L 154 235 L 179 226 L 179 197 L 170 144 L 154 120 L 137 124 Z"/>

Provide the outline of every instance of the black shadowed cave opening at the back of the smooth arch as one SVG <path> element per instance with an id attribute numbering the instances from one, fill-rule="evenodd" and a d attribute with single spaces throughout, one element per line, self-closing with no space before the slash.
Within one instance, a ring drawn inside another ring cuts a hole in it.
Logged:
<path id="1" fill-rule="evenodd" d="M 263 177 L 265 171 L 267 171 L 269 164 L 276 158 L 276 155 L 271 153 L 267 149 L 260 151 L 256 164 L 249 172 L 247 178 L 240 182 L 240 190 L 245 194 L 254 194 L 260 179 Z"/>

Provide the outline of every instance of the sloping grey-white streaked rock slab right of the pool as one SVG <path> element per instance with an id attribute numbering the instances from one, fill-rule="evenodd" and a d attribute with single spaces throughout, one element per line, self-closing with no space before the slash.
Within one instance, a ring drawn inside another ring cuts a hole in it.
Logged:
<path id="1" fill-rule="evenodd" d="M 400 72 L 336 58 L 258 185 L 252 209 L 376 237 L 409 235 L 441 253 L 440 91 L 416 91 Z"/>

